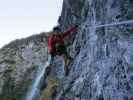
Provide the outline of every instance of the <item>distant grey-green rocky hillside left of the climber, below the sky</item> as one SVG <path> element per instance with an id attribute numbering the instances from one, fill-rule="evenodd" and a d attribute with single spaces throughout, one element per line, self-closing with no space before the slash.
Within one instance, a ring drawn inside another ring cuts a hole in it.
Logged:
<path id="1" fill-rule="evenodd" d="M 15 40 L 0 50 L 0 98 L 21 100 L 47 59 L 46 33 Z"/>

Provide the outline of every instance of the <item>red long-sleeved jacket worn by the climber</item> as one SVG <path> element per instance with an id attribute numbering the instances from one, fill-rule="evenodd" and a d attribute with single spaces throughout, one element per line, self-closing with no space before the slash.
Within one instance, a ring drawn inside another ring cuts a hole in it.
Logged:
<path id="1" fill-rule="evenodd" d="M 77 31 L 76 27 L 71 27 L 66 32 L 64 32 L 63 34 L 61 34 L 61 33 L 58 34 L 58 33 L 53 32 L 48 37 L 48 50 L 49 50 L 49 52 L 56 52 L 55 44 L 59 43 L 61 45 L 64 45 L 64 38 L 67 37 L 71 32 L 76 32 L 76 31 Z"/>

